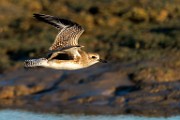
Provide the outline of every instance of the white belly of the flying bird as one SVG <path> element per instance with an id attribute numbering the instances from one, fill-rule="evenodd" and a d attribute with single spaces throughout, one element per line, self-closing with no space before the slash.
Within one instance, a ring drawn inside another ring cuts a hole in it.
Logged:
<path id="1" fill-rule="evenodd" d="M 82 65 L 72 62 L 50 63 L 48 67 L 61 70 L 76 70 L 83 68 Z"/>

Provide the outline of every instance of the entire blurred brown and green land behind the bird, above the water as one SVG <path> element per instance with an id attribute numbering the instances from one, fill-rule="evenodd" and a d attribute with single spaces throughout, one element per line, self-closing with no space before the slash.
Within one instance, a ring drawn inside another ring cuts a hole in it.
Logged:
<path id="1" fill-rule="evenodd" d="M 24 70 L 58 33 L 33 13 L 79 23 L 80 45 L 108 63 Z M 180 0 L 0 0 L 0 57 L 0 108 L 180 114 Z"/>

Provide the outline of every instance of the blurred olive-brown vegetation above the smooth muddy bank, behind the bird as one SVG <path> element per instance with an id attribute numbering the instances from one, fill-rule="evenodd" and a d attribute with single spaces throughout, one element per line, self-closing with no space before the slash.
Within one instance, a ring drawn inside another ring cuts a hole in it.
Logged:
<path id="1" fill-rule="evenodd" d="M 79 43 L 113 62 L 168 60 L 180 66 L 179 0 L 0 0 L 0 73 L 45 55 L 57 30 L 33 13 L 70 19 Z"/>

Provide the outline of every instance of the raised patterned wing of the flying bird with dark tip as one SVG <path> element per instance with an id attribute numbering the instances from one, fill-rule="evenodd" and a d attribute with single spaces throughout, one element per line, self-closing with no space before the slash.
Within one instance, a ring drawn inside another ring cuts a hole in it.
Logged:
<path id="1" fill-rule="evenodd" d="M 59 33 L 49 50 L 61 50 L 68 47 L 79 46 L 78 39 L 84 32 L 84 29 L 77 23 L 44 14 L 34 14 L 34 17 L 55 26 L 59 30 Z"/>

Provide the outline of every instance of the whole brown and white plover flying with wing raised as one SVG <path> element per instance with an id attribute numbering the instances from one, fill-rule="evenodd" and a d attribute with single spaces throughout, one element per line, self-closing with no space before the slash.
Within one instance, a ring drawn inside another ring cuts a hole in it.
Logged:
<path id="1" fill-rule="evenodd" d="M 34 17 L 53 25 L 59 32 L 54 43 L 49 48 L 47 57 L 25 60 L 25 68 L 39 66 L 61 70 L 76 70 L 89 67 L 98 62 L 106 62 L 100 59 L 99 54 L 82 50 L 84 46 L 78 44 L 78 39 L 84 29 L 79 24 L 45 14 L 34 14 Z"/>

